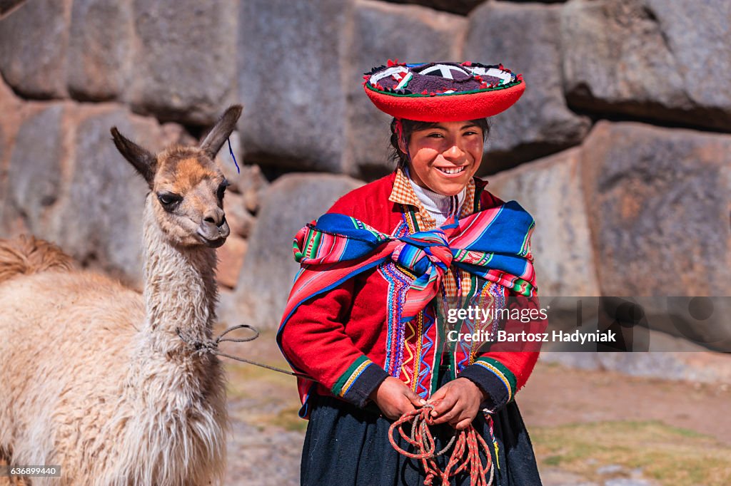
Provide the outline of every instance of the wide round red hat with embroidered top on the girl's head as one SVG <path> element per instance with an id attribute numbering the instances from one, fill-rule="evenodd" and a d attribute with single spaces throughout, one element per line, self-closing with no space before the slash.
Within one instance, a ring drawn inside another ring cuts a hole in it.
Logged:
<path id="1" fill-rule="evenodd" d="M 363 87 L 378 109 L 396 118 L 440 122 L 497 115 L 526 90 L 523 77 L 502 64 L 388 61 L 364 76 Z"/>

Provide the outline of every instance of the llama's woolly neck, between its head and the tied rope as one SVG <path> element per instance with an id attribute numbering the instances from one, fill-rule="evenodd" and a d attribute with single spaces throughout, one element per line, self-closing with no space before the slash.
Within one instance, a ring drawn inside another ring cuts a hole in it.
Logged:
<path id="1" fill-rule="evenodd" d="M 146 333 L 165 351 L 187 346 L 190 339 L 211 339 L 216 320 L 216 252 L 205 247 L 171 244 L 154 220 L 151 202 L 144 215 Z"/>

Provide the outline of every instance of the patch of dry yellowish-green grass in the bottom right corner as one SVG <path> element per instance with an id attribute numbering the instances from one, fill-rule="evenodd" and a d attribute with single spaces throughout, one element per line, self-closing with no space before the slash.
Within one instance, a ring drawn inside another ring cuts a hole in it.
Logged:
<path id="1" fill-rule="evenodd" d="M 731 485 L 731 447 L 713 437 L 659 421 L 599 422 L 531 428 L 539 465 L 606 479 L 610 464 L 642 468 L 661 485 Z"/>

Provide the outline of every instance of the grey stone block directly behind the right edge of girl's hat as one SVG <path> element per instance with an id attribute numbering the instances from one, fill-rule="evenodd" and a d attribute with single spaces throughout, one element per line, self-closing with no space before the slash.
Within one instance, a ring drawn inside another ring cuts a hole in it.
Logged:
<path id="1" fill-rule="evenodd" d="M 561 80 L 558 6 L 488 2 L 469 16 L 464 57 L 503 63 L 523 74 L 526 92 L 494 117 L 487 150 L 490 172 L 577 145 L 588 117 L 567 108 Z M 483 172 L 487 173 L 487 172 Z"/>

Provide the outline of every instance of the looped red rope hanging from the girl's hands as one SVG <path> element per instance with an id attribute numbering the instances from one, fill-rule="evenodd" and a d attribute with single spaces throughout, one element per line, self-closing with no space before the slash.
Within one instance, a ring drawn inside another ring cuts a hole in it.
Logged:
<path id="1" fill-rule="evenodd" d="M 406 412 L 401 415 L 400 419 L 391 424 L 391 427 L 388 429 L 388 440 L 391 442 L 393 448 L 407 458 L 421 460 L 424 471 L 426 472 L 426 478 L 424 479 L 425 486 L 430 486 L 435 478 L 442 479 L 442 486 L 449 486 L 450 477 L 454 477 L 462 471 L 467 471 L 468 468 L 470 486 L 492 485 L 494 471 L 490 449 L 485 439 L 482 439 L 482 436 L 474 430 L 471 424 L 463 431 L 456 432 L 455 436 L 452 436 L 452 440 L 450 440 L 444 449 L 435 452 L 436 445 L 429 430 L 429 425 L 433 425 L 434 422 L 430 414 L 433 408 L 432 405 L 425 405 L 412 412 Z M 409 435 L 406 435 L 404 432 L 405 423 L 411 423 L 412 425 Z M 492 427 L 492 424 L 489 425 Z M 394 429 L 398 430 L 401 437 L 411 444 L 417 452 L 409 452 L 398 447 L 394 439 Z M 452 444 L 455 444 L 454 450 L 447 463 L 447 467 L 442 471 L 436 464 L 436 458 L 447 452 L 452 447 Z M 487 458 L 485 465 L 482 464 L 482 459 L 480 458 L 480 448 L 485 452 L 485 457 Z"/>

